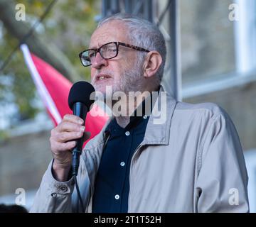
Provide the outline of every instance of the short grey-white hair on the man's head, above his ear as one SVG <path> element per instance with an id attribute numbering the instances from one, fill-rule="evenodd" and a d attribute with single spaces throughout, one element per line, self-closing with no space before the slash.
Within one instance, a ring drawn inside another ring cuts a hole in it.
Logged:
<path id="1" fill-rule="evenodd" d="M 164 40 L 164 35 L 159 31 L 159 28 L 149 21 L 146 21 L 137 16 L 117 13 L 107 18 L 103 18 L 99 23 L 97 28 L 100 28 L 103 24 L 110 21 L 122 21 L 124 26 L 127 26 L 129 30 L 129 40 L 132 41 L 132 45 L 137 45 L 140 48 L 146 50 L 156 50 L 162 57 L 161 66 L 156 72 L 156 76 L 159 79 L 159 83 L 164 74 L 164 65 L 166 62 L 166 43 Z M 146 52 L 140 52 L 138 54 L 139 62 L 143 62 L 146 57 Z"/>

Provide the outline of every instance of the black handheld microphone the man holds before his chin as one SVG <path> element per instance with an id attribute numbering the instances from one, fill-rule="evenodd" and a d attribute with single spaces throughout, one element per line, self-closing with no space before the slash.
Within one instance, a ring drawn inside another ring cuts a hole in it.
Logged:
<path id="1" fill-rule="evenodd" d="M 92 94 L 92 96 L 91 96 Z M 95 94 L 95 89 L 92 87 L 92 84 L 80 81 L 73 84 L 70 89 L 70 93 L 68 95 L 68 106 L 73 111 L 75 116 L 79 116 L 84 121 L 83 125 L 85 125 L 85 118 L 88 111 L 90 111 L 90 106 L 94 103 L 95 99 L 93 98 L 93 94 Z M 90 100 L 90 96 L 91 99 Z M 75 148 L 72 150 L 72 175 L 78 175 L 78 167 L 80 155 L 82 153 L 82 144 L 83 144 L 83 136 L 77 140 L 77 144 Z"/>

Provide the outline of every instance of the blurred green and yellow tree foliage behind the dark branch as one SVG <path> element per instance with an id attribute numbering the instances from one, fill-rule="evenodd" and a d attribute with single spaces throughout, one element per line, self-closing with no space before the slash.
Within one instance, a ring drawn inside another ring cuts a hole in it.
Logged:
<path id="1" fill-rule="evenodd" d="M 38 20 L 52 0 L 16 0 L 16 4 L 24 4 L 26 7 L 26 21 L 28 27 Z M 82 67 L 78 53 L 87 48 L 90 35 L 97 23 L 95 16 L 100 14 L 100 0 L 58 0 L 50 10 L 43 23 L 36 28 L 36 34 L 40 35 L 47 43 L 54 45 L 64 53 L 75 72 L 81 79 L 89 80 L 89 69 Z M 6 24 L 0 21 L 0 63 L 14 49 L 19 40 L 14 38 L 6 28 Z M 33 118 L 40 109 L 35 105 L 36 90 L 31 75 L 23 60 L 20 50 L 4 69 L 0 72 L 0 105 L 15 104 L 16 110 L 9 117 L 16 120 Z M 15 121 L 13 121 L 14 124 Z M 1 128 L 0 128 L 1 129 Z"/>

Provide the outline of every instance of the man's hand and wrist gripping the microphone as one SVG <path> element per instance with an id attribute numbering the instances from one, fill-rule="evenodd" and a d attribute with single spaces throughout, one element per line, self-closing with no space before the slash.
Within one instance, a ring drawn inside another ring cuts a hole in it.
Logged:
<path id="1" fill-rule="evenodd" d="M 50 148 L 53 153 L 53 176 L 58 181 L 68 180 L 72 153 L 78 138 L 85 132 L 83 120 L 78 116 L 67 114 L 63 120 L 50 132 Z M 90 138 L 90 133 L 85 133 L 85 140 Z"/>

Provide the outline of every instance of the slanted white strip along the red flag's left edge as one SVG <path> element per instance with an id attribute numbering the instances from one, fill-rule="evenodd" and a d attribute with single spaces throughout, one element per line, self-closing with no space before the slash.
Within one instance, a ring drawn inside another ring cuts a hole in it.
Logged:
<path id="1" fill-rule="evenodd" d="M 61 121 L 60 113 L 58 112 L 58 109 L 56 108 L 55 103 L 48 92 L 48 89 L 43 83 L 43 80 L 41 79 L 41 76 L 38 73 L 38 70 L 36 70 L 36 66 L 34 65 L 34 62 L 31 57 L 31 53 L 28 50 L 28 46 L 26 44 L 22 44 L 21 50 L 23 52 L 26 65 L 28 66 L 28 70 L 31 72 L 31 77 L 33 79 L 33 82 L 36 84 L 38 93 L 41 96 L 41 99 L 43 99 L 44 104 L 46 105 L 47 109 L 50 111 L 50 114 L 52 114 L 55 121 L 57 123 L 60 123 Z"/>

